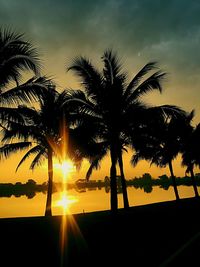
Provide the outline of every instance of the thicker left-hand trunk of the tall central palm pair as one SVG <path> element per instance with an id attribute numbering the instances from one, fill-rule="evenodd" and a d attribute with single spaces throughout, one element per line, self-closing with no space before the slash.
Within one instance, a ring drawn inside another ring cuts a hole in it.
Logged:
<path id="1" fill-rule="evenodd" d="M 115 146 L 111 146 L 110 150 L 111 156 L 111 168 L 110 168 L 110 205 L 111 205 L 111 212 L 114 214 L 117 212 L 118 208 L 118 201 L 117 201 L 117 171 L 116 171 L 116 164 L 117 164 L 117 152 Z"/>

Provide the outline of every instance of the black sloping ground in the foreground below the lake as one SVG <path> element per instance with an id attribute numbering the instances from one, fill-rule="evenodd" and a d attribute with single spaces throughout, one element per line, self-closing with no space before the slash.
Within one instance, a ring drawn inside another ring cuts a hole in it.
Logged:
<path id="1" fill-rule="evenodd" d="M 0 266 L 200 266 L 200 201 L 62 217 L 0 219 Z"/>

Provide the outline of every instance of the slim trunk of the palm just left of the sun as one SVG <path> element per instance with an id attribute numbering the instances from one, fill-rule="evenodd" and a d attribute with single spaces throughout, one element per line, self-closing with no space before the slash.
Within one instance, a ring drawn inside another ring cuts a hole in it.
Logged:
<path id="1" fill-rule="evenodd" d="M 53 153 L 52 149 L 48 149 L 48 187 L 47 187 L 47 202 L 45 216 L 52 216 L 51 203 L 52 203 L 52 190 L 53 190 Z"/>

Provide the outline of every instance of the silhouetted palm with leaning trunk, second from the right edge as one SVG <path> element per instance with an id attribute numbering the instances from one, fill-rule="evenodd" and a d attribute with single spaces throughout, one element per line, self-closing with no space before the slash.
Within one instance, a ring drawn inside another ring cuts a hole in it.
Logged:
<path id="1" fill-rule="evenodd" d="M 137 133 L 138 138 L 134 140 L 135 154 L 131 162 L 135 166 L 139 160 L 145 159 L 159 167 L 168 165 L 175 197 L 179 200 L 172 162 L 181 150 L 180 139 L 186 113 L 182 111 L 172 115 L 147 122 L 147 127 Z M 152 123 L 156 123 L 156 127 Z"/>

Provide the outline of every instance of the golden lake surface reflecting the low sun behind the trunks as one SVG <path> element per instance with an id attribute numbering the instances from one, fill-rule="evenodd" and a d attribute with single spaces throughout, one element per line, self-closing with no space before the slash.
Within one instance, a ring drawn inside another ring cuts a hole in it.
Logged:
<path id="1" fill-rule="evenodd" d="M 179 186 L 178 191 L 181 198 L 193 197 L 194 192 L 191 186 Z M 151 193 L 143 189 L 128 187 L 130 206 L 174 200 L 173 187 L 164 190 L 154 186 Z M 119 208 L 123 207 L 122 194 L 118 194 Z M 33 198 L 0 197 L 0 218 L 30 217 L 44 215 L 46 194 L 36 193 Z M 52 212 L 53 215 L 63 213 L 83 213 L 110 209 L 110 192 L 105 188 L 86 189 L 83 192 L 70 189 L 67 192 L 56 192 L 53 194 Z"/>

